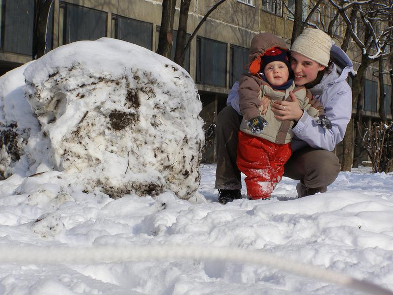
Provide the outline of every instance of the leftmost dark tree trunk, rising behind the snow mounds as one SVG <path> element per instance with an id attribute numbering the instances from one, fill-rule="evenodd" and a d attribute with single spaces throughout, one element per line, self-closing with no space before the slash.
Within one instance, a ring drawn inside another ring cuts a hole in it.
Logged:
<path id="1" fill-rule="evenodd" d="M 39 59 L 45 54 L 46 31 L 52 3 L 53 0 L 34 0 L 32 59 Z"/>

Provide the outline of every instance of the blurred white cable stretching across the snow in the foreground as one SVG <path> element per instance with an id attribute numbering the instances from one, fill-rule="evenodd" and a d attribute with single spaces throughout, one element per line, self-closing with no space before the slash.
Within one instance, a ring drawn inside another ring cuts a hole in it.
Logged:
<path id="1" fill-rule="evenodd" d="M 151 260 L 219 260 L 278 268 L 297 275 L 342 285 L 372 295 L 393 295 L 392 291 L 370 282 L 326 268 L 290 261 L 258 250 L 197 248 L 192 246 L 95 246 L 93 248 L 0 245 L 0 263 L 87 264 Z"/>

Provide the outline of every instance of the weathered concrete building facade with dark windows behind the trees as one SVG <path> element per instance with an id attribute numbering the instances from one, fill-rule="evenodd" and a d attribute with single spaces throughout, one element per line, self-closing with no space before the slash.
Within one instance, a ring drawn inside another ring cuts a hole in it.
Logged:
<path id="1" fill-rule="evenodd" d="M 180 1 L 176 6 L 174 42 Z M 191 0 L 188 34 L 191 35 L 217 0 Z M 229 89 L 245 71 L 253 36 L 270 31 L 283 37 L 289 47 L 294 0 L 227 0 L 197 31 L 186 55 L 184 68 L 196 82 L 203 104 L 201 117 L 208 127 L 226 104 Z M 0 0 L 0 75 L 31 60 L 34 0 Z M 289 8 L 289 9 L 288 9 Z M 307 14 L 307 6 L 304 6 Z M 112 37 L 155 51 L 161 24 L 162 0 L 54 0 L 47 33 L 47 51 L 78 40 Z M 327 14 L 329 15 L 329 14 Z M 315 16 L 315 22 L 320 18 Z M 343 27 L 337 25 L 337 41 Z M 174 56 L 175 44 L 172 47 Z M 356 59 L 356 53 L 350 54 Z M 370 68 L 365 91 L 365 116 L 379 118 L 379 87 Z M 386 80 L 390 98 L 392 87 Z M 390 101 L 386 101 L 390 106 Z M 387 108 L 389 118 L 390 107 Z M 339 149 L 338 149 L 339 150 Z M 338 152 L 339 153 L 339 152 Z M 204 161 L 215 161 L 214 138 L 204 151 Z"/>

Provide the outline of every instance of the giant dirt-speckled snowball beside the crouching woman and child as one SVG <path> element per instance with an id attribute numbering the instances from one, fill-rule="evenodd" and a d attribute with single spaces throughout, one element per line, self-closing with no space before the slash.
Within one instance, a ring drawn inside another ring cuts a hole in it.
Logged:
<path id="1" fill-rule="evenodd" d="M 101 38 L 54 49 L 24 76 L 53 169 L 113 198 L 195 193 L 202 105 L 182 67 L 140 46 Z"/>

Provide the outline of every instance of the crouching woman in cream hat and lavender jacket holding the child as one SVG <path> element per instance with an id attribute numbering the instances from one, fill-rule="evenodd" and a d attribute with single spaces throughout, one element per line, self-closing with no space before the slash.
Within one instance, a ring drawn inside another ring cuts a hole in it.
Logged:
<path id="1" fill-rule="evenodd" d="M 335 61 L 332 63 L 331 59 Z M 326 192 L 337 178 L 339 163 L 332 152 L 343 139 L 351 118 L 352 93 L 345 79 L 353 71 L 347 55 L 319 29 L 305 29 L 291 47 L 291 68 L 297 86 L 310 89 L 325 107 L 325 115 L 333 127 L 325 129 L 313 123 L 298 102 L 280 101 L 271 107 L 278 119 L 293 119 L 295 134 L 292 155 L 284 166 L 284 176 L 300 180 L 298 197 Z M 229 92 L 227 106 L 217 116 L 216 186 L 219 202 L 226 204 L 241 198 L 241 178 L 236 166 L 237 133 L 242 121 L 237 95 L 238 83 Z M 269 103 L 266 99 L 264 104 Z M 266 109 L 266 108 L 263 108 Z"/>

